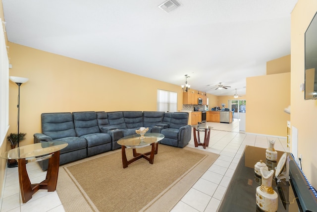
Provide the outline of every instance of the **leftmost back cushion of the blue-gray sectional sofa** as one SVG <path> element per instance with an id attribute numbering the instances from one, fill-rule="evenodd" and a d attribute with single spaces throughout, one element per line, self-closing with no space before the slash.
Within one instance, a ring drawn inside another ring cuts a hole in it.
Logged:
<path id="1" fill-rule="evenodd" d="M 71 113 L 42 113 L 42 132 L 53 140 L 76 136 Z"/>

